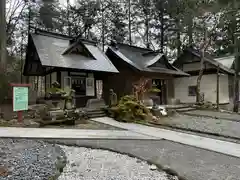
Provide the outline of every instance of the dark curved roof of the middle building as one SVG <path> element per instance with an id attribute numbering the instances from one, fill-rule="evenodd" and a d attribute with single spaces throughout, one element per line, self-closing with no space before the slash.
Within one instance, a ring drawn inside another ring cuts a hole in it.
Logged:
<path id="1" fill-rule="evenodd" d="M 172 66 L 164 54 L 151 49 L 117 43 L 108 47 L 106 54 L 109 52 L 114 53 L 121 60 L 139 71 L 188 75 Z"/>

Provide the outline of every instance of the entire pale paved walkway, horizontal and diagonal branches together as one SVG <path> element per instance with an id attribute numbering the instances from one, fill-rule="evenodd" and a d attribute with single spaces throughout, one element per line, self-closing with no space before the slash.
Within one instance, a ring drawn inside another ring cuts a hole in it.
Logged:
<path id="1" fill-rule="evenodd" d="M 201 137 L 182 132 L 148 127 L 140 124 L 120 123 L 111 118 L 95 118 L 93 121 L 108 124 L 125 131 L 79 130 L 49 128 L 0 128 L 0 137 L 45 138 L 45 139 L 166 139 L 173 142 L 240 157 L 240 144 Z"/>

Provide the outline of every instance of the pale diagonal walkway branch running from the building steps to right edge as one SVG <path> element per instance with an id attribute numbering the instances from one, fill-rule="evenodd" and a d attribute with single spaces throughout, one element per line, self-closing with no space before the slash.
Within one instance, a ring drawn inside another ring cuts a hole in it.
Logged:
<path id="1" fill-rule="evenodd" d="M 144 134 L 147 136 L 154 136 L 159 139 L 166 139 L 181 144 L 186 144 L 235 157 L 240 157 L 240 144 L 160 128 L 148 127 L 140 124 L 121 123 L 108 117 L 95 118 L 92 120 L 111 126 L 127 129 L 129 131 Z"/>

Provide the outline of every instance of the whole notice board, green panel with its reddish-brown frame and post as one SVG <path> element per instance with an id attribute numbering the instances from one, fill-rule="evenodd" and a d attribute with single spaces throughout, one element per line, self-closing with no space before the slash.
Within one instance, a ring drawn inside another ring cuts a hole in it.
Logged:
<path id="1" fill-rule="evenodd" d="M 18 122 L 22 122 L 22 112 L 28 110 L 28 88 L 30 84 L 11 84 L 13 87 L 13 111 L 18 114 Z"/>

